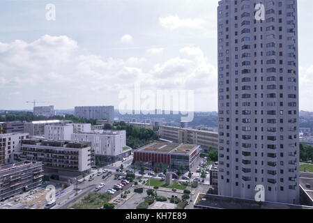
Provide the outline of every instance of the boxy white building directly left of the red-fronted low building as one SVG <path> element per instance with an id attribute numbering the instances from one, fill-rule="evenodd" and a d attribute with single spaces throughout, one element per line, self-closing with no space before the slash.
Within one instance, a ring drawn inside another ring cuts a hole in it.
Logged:
<path id="1" fill-rule="evenodd" d="M 99 130 L 72 134 L 72 140 L 91 141 L 96 164 L 115 162 L 122 157 L 130 155 L 131 148 L 126 146 L 125 130 Z"/>

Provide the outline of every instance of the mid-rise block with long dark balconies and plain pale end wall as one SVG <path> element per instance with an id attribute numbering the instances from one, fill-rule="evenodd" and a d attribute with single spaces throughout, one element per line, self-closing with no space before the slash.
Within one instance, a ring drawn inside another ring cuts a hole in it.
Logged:
<path id="1" fill-rule="evenodd" d="M 91 171 L 91 143 L 24 139 L 15 160 L 43 162 L 46 176 L 68 182 Z"/>

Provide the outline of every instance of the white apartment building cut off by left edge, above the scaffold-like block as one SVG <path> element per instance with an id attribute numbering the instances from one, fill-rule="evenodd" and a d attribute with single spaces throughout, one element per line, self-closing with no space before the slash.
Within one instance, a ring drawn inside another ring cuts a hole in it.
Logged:
<path id="1" fill-rule="evenodd" d="M 0 165 L 13 162 L 13 153 L 20 151 L 21 141 L 28 136 L 28 133 L 0 134 Z"/>

